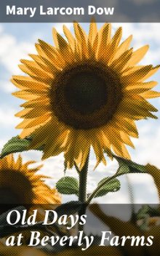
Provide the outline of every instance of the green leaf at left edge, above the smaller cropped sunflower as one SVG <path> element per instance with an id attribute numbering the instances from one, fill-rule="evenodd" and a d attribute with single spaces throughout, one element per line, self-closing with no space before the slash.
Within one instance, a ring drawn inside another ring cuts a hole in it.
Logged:
<path id="1" fill-rule="evenodd" d="M 4 156 L 9 155 L 10 153 L 28 151 L 31 140 L 31 137 L 26 137 L 25 139 L 20 139 L 19 136 L 12 137 L 12 139 L 4 145 L 4 148 L 1 151 L 0 159 L 3 159 Z M 42 148 L 37 148 L 37 150 L 41 151 Z"/>

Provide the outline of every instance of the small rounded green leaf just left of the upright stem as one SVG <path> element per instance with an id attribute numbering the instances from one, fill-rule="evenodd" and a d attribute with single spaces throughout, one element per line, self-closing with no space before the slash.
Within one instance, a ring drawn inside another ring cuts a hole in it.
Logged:
<path id="1" fill-rule="evenodd" d="M 57 191 L 65 195 L 79 195 L 79 181 L 74 177 L 63 177 L 56 184 Z"/>

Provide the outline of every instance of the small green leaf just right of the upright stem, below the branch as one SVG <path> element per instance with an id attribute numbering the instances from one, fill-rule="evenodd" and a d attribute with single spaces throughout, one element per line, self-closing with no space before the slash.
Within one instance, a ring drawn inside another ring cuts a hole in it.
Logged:
<path id="1" fill-rule="evenodd" d="M 99 191 L 97 191 L 95 197 L 105 196 L 109 192 L 119 191 L 119 189 L 121 188 L 121 183 L 119 182 L 119 180 L 113 179 L 108 182 L 107 180 L 108 177 L 105 177 L 103 180 L 100 180 L 100 183 L 98 183 L 97 187 L 100 187 L 100 185 L 102 185 L 102 183 L 104 183 L 105 181 L 106 183 L 99 189 Z"/>

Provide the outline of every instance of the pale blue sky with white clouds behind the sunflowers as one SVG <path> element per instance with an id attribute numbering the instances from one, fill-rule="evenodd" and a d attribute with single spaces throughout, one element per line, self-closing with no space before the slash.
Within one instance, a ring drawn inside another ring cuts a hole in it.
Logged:
<path id="1" fill-rule="evenodd" d="M 71 23 L 65 24 L 73 31 Z M 89 24 L 81 24 L 88 31 Z M 100 26 L 102 24 L 98 24 Z M 133 35 L 132 47 L 137 49 L 145 44 L 150 45 L 150 49 L 145 55 L 142 65 L 158 65 L 160 57 L 160 23 L 113 23 L 113 32 L 116 28 L 122 26 L 123 39 L 130 34 Z M 13 97 L 15 86 L 9 81 L 12 75 L 22 75 L 22 71 L 17 67 L 20 59 L 29 59 L 29 53 L 36 53 L 34 44 L 38 39 L 53 44 L 52 27 L 55 27 L 63 35 L 62 23 L 0 23 L 0 150 L 7 141 L 20 133 L 15 129 L 20 123 L 20 119 L 14 115 L 20 111 L 22 100 Z M 160 81 L 160 71 L 156 73 L 151 80 Z M 160 91 L 159 85 L 156 87 Z M 160 99 L 153 99 L 151 103 L 160 111 Z M 156 113 L 160 117 L 160 112 Z M 135 150 L 129 148 L 129 153 L 133 161 L 139 164 L 153 164 L 160 168 L 160 121 L 144 120 L 137 121 L 139 139 L 132 140 L 135 144 Z M 41 163 L 41 152 L 30 151 L 22 153 L 24 162 L 27 160 L 36 160 Z M 16 156 L 15 156 L 16 157 Z M 47 159 L 43 162 L 41 169 L 45 175 L 50 175 L 52 179 L 47 181 L 50 186 L 55 186 L 57 180 L 63 177 L 63 154 Z M 116 161 L 108 159 L 108 165 L 105 167 L 99 164 L 93 171 L 95 165 L 95 156 L 92 153 L 89 161 L 89 177 L 87 181 L 88 193 L 91 193 L 98 181 L 108 175 L 116 172 Z M 76 177 L 75 169 L 68 170 L 66 175 Z M 99 203 L 129 203 L 128 181 L 132 185 L 134 201 L 137 204 L 151 204 L 158 202 L 157 191 L 150 175 L 127 175 L 119 178 L 121 189 L 116 193 L 108 193 L 107 196 L 95 199 Z M 63 201 L 77 199 L 76 196 L 63 196 Z"/>

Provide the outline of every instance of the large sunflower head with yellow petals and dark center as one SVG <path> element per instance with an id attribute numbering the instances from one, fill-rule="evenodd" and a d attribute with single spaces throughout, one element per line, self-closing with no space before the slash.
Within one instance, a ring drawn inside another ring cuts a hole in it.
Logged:
<path id="1" fill-rule="evenodd" d="M 75 36 L 63 27 L 67 41 L 53 28 L 55 47 L 39 40 L 37 55 L 19 65 L 28 76 L 12 78 L 20 88 L 14 95 L 27 100 L 16 115 L 24 119 L 20 137 L 32 134 L 31 148 L 44 145 L 43 159 L 64 152 L 68 168 L 76 161 L 81 169 L 91 146 L 97 164 L 105 163 L 104 151 L 129 158 L 135 120 L 156 119 L 145 99 L 159 96 L 151 91 L 157 83 L 144 81 L 159 66 L 137 65 L 148 46 L 133 52 L 132 36 L 120 44 L 121 28 L 111 38 L 111 24 L 98 31 L 93 22 L 89 35 L 73 25 Z"/>

